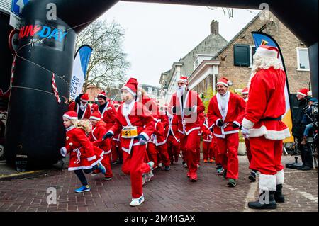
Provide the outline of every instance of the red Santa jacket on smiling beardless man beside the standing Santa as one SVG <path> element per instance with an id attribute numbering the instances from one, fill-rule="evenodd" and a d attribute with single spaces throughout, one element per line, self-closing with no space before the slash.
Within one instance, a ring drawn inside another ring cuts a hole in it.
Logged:
<path id="1" fill-rule="evenodd" d="M 238 127 L 245 117 L 245 101 L 244 99 L 232 92 L 228 91 L 225 95 L 225 113 L 222 111 L 222 100 L 220 94 L 216 94 L 211 98 L 208 106 L 208 123 L 213 126 L 213 134 L 216 137 L 225 138 L 225 135 L 239 132 L 239 128 L 233 128 L 233 123 Z M 218 120 L 223 120 L 223 127 L 217 126 Z M 211 127 L 210 126 L 210 127 Z"/>

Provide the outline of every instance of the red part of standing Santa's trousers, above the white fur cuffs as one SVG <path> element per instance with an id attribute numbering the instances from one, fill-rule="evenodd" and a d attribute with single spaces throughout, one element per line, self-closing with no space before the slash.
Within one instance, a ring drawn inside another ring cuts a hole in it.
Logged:
<path id="1" fill-rule="evenodd" d="M 250 169 L 256 169 L 260 174 L 267 175 L 275 175 L 284 169 L 281 165 L 282 146 L 282 140 L 267 140 L 264 136 L 250 138 L 252 152 Z"/>

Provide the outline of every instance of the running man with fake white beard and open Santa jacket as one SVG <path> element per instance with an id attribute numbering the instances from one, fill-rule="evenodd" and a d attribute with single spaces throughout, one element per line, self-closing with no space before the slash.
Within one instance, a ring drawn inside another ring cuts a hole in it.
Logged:
<path id="1" fill-rule="evenodd" d="M 197 181 L 197 150 L 201 145 L 198 132 L 201 129 L 199 114 L 205 111 L 203 101 L 196 91 L 188 89 L 188 78 L 181 77 L 177 81 L 177 92 L 172 95 L 169 103 L 169 113 L 178 116 L 179 132 L 181 132 L 181 144 L 184 145 L 189 172 L 187 176 L 192 182 Z"/>

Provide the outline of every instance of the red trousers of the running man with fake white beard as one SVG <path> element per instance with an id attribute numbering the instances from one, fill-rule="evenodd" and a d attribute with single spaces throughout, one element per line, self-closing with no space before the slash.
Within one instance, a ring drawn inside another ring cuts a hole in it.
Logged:
<path id="1" fill-rule="evenodd" d="M 201 145 L 198 130 L 192 131 L 189 135 L 183 135 L 181 138 L 181 144 L 185 145 L 184 152 L 187 166 L 189 168 L 189 174 L 194 175 L 191 177 L 197 177 L 198 148 L 200 148 Z"/>

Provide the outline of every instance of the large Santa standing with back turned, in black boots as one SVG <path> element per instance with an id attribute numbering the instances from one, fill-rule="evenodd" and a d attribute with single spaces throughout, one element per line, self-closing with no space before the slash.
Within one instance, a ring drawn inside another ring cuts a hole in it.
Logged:
<path id="1" fill-rule="evenodd" d="M 291 136 L 289 128 L 281 121 L 286 112 L 285 84 L 279 50 L 259 46 L 250 77 L 247 114 L 242 120 L 242 134 L 250 139 L 250 168 L 260 172 L 259 200 L 248 203 L 250 208 L 276 208 L 276 202 L 284 202 L 281 155 L 283 140 Z"/>

